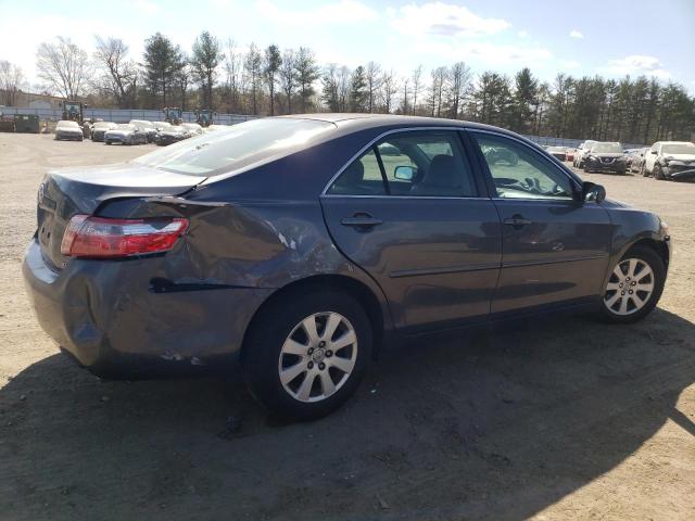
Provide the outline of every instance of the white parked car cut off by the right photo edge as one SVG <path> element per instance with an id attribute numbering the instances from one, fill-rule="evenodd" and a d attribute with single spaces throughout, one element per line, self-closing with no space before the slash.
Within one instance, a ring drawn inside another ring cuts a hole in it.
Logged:
<path id="1" fill-rule="evenodd" d="M 655 179 L 695 180 L 695 144 L 658 141 L 644 157 L 644 176 Z"/>

